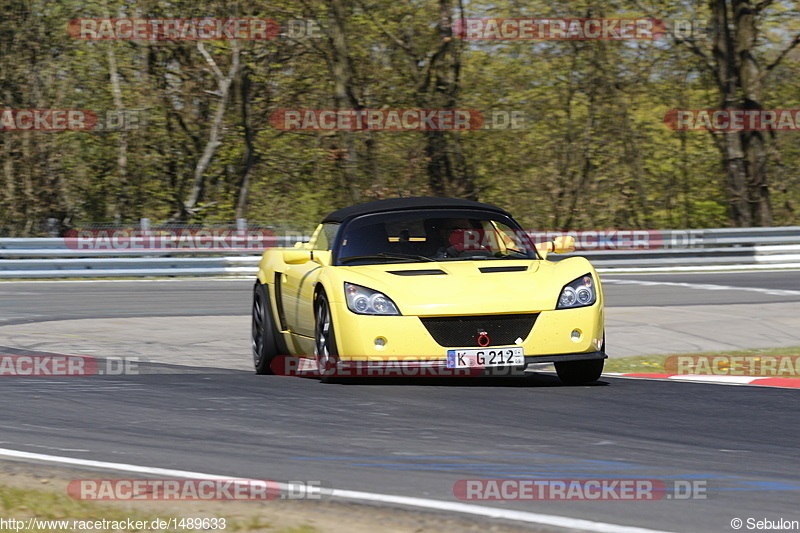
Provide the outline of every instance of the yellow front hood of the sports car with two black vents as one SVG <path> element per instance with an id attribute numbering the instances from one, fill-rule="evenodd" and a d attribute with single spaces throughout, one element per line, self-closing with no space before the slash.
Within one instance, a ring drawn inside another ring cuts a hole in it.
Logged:
<path id="1" fill-rule="evenodd" d="M 384 292 L 404 315 L 422 316 L 553 309 L 562 287 L 571 281 L 552 263 L 522 260 L 393 263 L 348 270 L 352 283 Z"/>

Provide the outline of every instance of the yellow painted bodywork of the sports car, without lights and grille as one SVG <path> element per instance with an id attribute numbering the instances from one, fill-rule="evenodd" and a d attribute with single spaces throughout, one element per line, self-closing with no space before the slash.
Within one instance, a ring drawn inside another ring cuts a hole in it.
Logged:
<path id="1" fill-rule="evenodd" d="M 307 246 L 313 257 L 312 246 Z M 444 360 L 440 346 L 420 317 L 538 313 L 531 333 L 520 344 L 526 356 L 601 351 L 604 337 L 603 292 L 592 265 L 583 257 L 560 262 L 546 260 L 478 260 L 330 266 L 329 256 L 303 264 L 287 264 L 281 250 L 264 253 L 258 279 L 269 285 L 273 316 L 291 355 L 313 355 L 314 297 L 324 290 L 331 303 L 339 357 L 342 360 L 381 360 L 397 357 Z M 526 266 L 524 272 L 483 273 L 482 267 Z M 444 274 L 402 276 L 392 271 L 439 269 Z M 275 274 L 280 274 L 276 291 Z M 555 310 L 564 285 L 591 274 L 597 301 L 577 309 Z M 347 308 L 344 283 L 355 283 L 391 298 L 402 316 L 359 315 Z M 581 335 L 573 339 L 573 330 Z M 386 344 L 376 347 L 375 339 Z M 464 346 L 475 348 L 476 346 Z"/>

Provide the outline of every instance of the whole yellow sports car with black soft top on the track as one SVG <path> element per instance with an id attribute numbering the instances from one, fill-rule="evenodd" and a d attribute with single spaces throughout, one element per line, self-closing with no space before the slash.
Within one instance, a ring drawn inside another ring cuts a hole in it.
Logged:
<path id="1" fill-rule="evenodd" d="M 552 362 L 565 383 L 596 381 L 607 357 L 600 278 L 583 257 L 547 260 L 573 250 L 572 237 L 530 242 L 508 212 L 468 200 L 340 209 L 309 243 L 264 252 L 256 372 L 288 373 L 278 367 L 291 360 L 332 381 L 400 366 L 395 375 L 498 375 Z"/>

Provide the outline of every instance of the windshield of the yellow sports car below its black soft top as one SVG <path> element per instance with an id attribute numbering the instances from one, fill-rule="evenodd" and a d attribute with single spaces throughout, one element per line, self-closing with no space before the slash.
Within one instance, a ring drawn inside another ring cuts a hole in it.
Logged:
<path id="1" fill-rule="evenodd" d="M 342 265 L 537 259 L 528 235 L 513 220 L 479 210 L 364 215 L 342 228 L 337 257 Z"/>

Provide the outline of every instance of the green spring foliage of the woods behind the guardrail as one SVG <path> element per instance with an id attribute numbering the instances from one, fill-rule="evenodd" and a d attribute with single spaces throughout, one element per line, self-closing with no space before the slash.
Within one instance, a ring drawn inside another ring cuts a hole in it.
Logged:
<path id="1" fill-rule="evenodd" d="M 247 172 L 249 125 L 253 168 L 243 213 L 251 220 L 309 227 L 352 201 L 431 193 L 426 137 L 420 132 L 284 132 L 270 124 L 279 109 L 337 106 L 328 38 L 204 42 L 227 72 L 234 46 L 242 68 L 231 85 L 221 143 L 202 175 L 197 209 L 182 206 L 210 139 L 220 105 L 212 68 L 193 41 L 84 41 L 67 35 L 78 17 L 260 17 L 329 21 L 329 2 L 258 0 L 231 7 L 212 1 L 47 2 L 11 0 L 0 7 L 0 106 L 12 109 L 115 111 L 112 61 L 122 107 L 140 110 L 129 132 L 0 134 L 0 222 L 55 217 L 80 222 L 170 218 L 227 221 Z M 422 83 L 442 45 L 440 2 L 344 2 L 355 96 L 367 108 L 446 105 L 445 73 Z M 655 3 L 653 3 L 655 5 Z M 458 14 L 458 3 L 453 2 Z M 646 6 L 645 6 L 646 7 Z M 661 6 L 657 6 L 661 9 Z M 562 3 L 478 0 L 478 17 L 645 16 L 637 2 Z M 708 8 L 678 3 L 665 20 L 704 20 Z M 328 25 L 329 26 L 329 25 Z M 784 4 L 766 12 L 759 53 L 769 63 L 800 23 Z M 327 30 L 326 30 L 327 31 Z M 447 133 L 463 153 L 456 172 L 479 199 L 508 208 L 537 228 L 675 228 L 730 224 L 725 174 L 711 135 L 674 132 L 674 108 L 718 105 L 714 80 L 695 54 L 671 38 L 657 41 L 458 41 L 456 108 L 524 111 L 524 130 Z M 789 54 L 771 74 L 770 108 L 800 108 L 800 62 Z M 440 80 L 441 81 L 441 80 Z M 247 108 L 243 104 L 247 103 Z M 350 144 L 352 143 L 352 146 Z M 350 150 L 348 152 L 348 150 Z M 800 139 L 770 138 L 775 222 L 798 224 Z M 355 180 L 342 172 L 352 155 Z M 122 156 L 124 155 L 124 162 Z M 452 154 L 451 154 L 452 155 Z M 453 194 L 467 194 L 453 188 Z"/>

